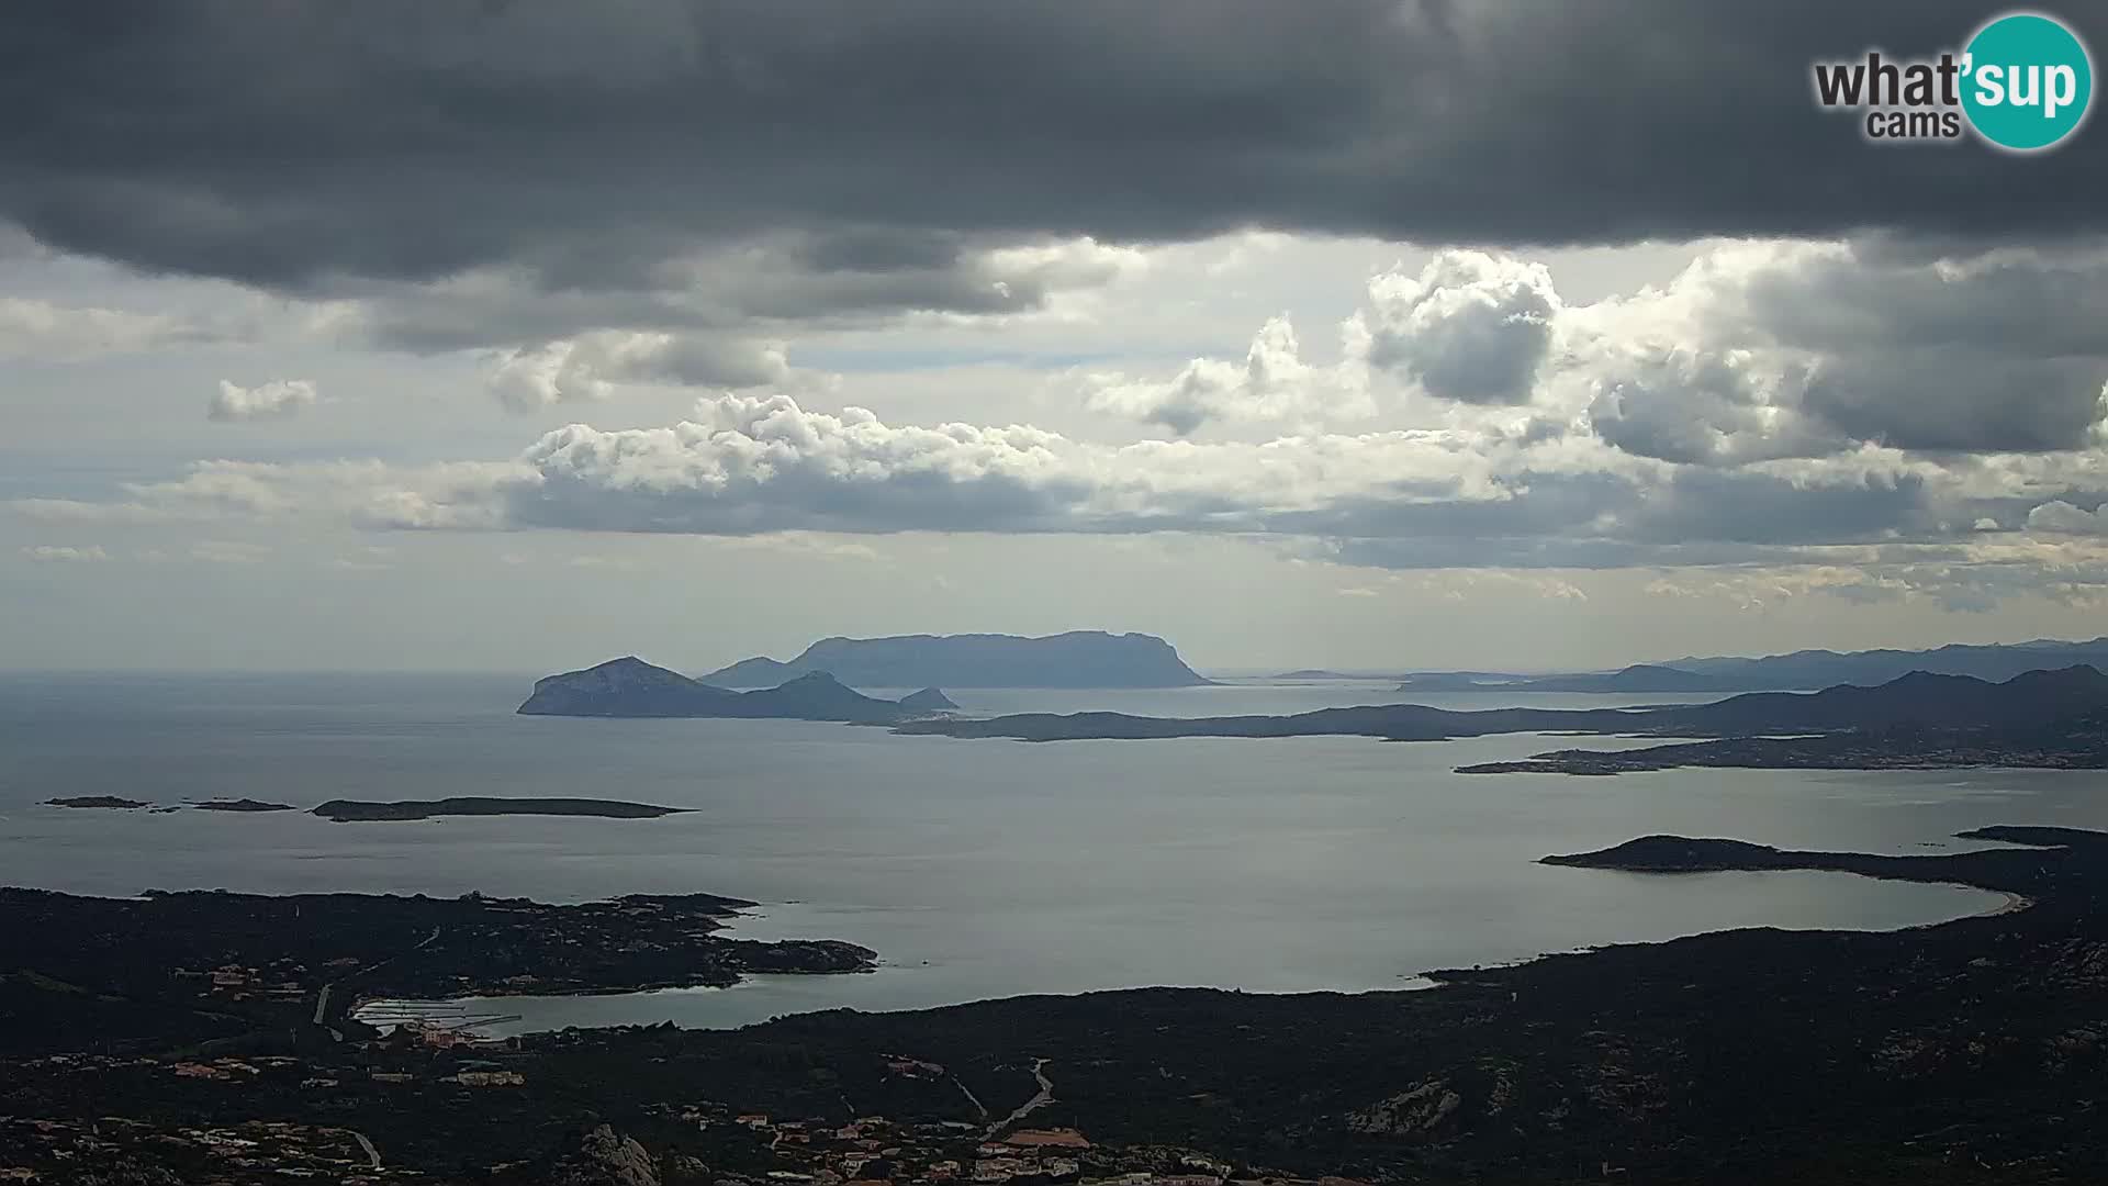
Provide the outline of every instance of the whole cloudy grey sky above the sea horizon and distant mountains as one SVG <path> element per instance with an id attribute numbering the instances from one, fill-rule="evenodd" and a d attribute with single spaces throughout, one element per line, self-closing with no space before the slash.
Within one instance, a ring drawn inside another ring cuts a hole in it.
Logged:
<path id="1" fill-rule="evenodd" d="M 2108 633 L 2108 133 L 1811 101 L 1996 11 L 8 4 L 0 667 Z"/>

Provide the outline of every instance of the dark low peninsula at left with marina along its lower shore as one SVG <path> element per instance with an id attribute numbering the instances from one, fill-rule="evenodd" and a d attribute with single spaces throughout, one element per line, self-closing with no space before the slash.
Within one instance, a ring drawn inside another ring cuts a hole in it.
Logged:
<path id="1" fill-rule="evenodd" d="M 310 1028 L 358 1030 L 360 998 L 588 994 L 731 986 L 748 973 L 858 973 L 877 954 L 835 939 L 719 931 L 757 903 L 626 895 L 548 905 L 464 895 L 0 888 L 0 1055 L 192 1045 Z M 0 1076 L 4 1078 L 4 1076 Z M 4 1112 L 4 1108 L 0 1108 Z"/>

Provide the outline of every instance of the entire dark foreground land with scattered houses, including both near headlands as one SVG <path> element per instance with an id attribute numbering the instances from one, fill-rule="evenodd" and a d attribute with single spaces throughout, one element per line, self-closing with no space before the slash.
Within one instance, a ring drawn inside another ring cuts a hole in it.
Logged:
<path id="1" fill-rule="evenodd" d="M 1651 836 L 1560 876 L 1832 869 L 2009 895 L 1895 933 L 1726 931 L 1425 992 L 1128 990 L 479 1038 L 375 994 L 725 979 L 731 899 L 0 893 L 0 1171 L 23 1182 L 818 1186 L 2091 1182 L 2108 836 L 1925 857 Z M 443 1118 L 443 1123 L 436 1123 Z"/>

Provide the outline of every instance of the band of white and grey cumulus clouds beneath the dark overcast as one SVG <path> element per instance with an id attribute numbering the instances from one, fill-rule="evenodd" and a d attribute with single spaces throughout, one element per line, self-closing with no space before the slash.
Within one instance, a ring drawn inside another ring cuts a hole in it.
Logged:
<path id="1" fill-rule="evenodd" d="M 1170 439 L 892 424 L 725 393 L 668 426 L 569 424 L 500 462 L 215 460 L 114 500 L 15 506 L 713 536 L 1208 532 L 1372 568 L 1965 568 L 2005 549 L 1996 566 L 2055 555 L 2060 580 L 2083 585 L 2091 570 L 2066 553 L 2102 534 L 2108 500 L 2108 338 L 2087 331 L 2104 293 L 2097 243 L 1729 243 L 1665 285 L 1585 304 L 1518 255 L 1450 251 L 1377 274 L 1334 363 L 1309 361 L 1284 317 L 1244 359 L 1092 378 L 1100 412 Z M 727 386 L 746 376 L 683 350 L 584 338 L 510 357 L 495 382 L 538 407 L 689 363 Z M 784 367 L 767 357 L 748 378 Z M 312 386 L 223 397 L 264 414 Z M 1370 418 L 1398 426 L 1343 428 Z M 1212 435 L 1267 422 L 1292 435 Z"/>

